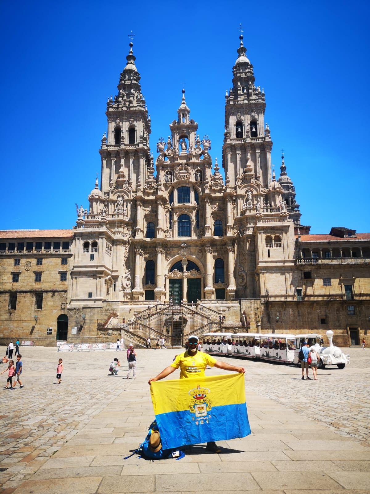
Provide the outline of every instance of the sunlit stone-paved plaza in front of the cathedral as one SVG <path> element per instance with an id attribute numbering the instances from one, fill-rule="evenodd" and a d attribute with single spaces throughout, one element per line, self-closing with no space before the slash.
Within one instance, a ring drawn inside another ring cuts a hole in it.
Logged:
<path id="1" fill-rule="evenodd" d="M 370 350 L 344 351 L 350 366 L 319 371 L 318 381 L 302 381 L 295 367 L 225 358 L 246 367 L 252 435 L 220 442 L 220 454 L 202 445 L 179 461 L 147 461 L 123 456 L 153 419 L 148 378 L 179 350 L 139 349 L 137 379 L 127 380 L 124 351 L 21 348 L 25 387 L 4 390 L 1 375 L 0 494 L 370 493 Z M 122 367 L 111 377 L 116 355 Z"/>

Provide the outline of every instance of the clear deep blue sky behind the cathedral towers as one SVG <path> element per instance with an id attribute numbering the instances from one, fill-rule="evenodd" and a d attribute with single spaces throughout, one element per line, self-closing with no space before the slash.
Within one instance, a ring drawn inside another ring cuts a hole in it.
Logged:
<path id="1" fill-rule="evenodd" d="M 184 82 L 221 163 L 242 23 L 266 94 L 272 162 L 278 176 L 284 148 L 301 222 L 311 233 L 368 232 L 369 10 L 356 0 L 2 1 L 0 229 L 72 228 L 74 203 L 88 207 L 131 30 L 154 156 Z"/>

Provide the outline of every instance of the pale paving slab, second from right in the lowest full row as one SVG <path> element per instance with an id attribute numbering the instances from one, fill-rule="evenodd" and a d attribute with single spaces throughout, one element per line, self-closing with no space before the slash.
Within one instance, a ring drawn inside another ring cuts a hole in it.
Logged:
<path id="1" fill-rule="evenodd" d="M 299 489 L 308 486 L 312 490 L 338 489 L 340 484 L 335 482 L 324 472 L 273 472 L 264 474 L 262 472 L 252 472 L 253 478 L 258 482 L 262 490 L 265 489 Z"/>

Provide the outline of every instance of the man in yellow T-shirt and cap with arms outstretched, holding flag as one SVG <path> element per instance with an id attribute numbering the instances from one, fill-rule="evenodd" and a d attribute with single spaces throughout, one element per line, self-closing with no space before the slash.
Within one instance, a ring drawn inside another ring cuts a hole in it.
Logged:
<path id="1" fill-rule="evenodd" d="M 159 372 L 157 376 L 151 377 L 148 380 L 148 384 L 150 385 L 152 381 L 159 381 L 160 379 L 163 379 L 164 377 L 174 372 L 176 369 L 179 369 L 179 367 L 180 379 L 197 379 L 199 377 L 202 378 L 204 377 L 204 371 L 207 366 L 217 367 L 218 369 L 224 369 L 225 371 L 243 372 L 244 374 L 244 367 L 236 367 L 231 364 L 227 364 L 226 362 L 216 360 L 207 353 L 198 352 L 198 343 L 198 336 L 189 336 L 187 340 L 188 350 L 178 355 L 175 361 L 171 365 L 163 369 L 162 372 Z M 217 435 L 217 431 L 215 431 L 215 434 Z M 207 450 L 211 451 L 212 453 L 221 453 L 220 448 L 214 441 L 207 443 Z"/>

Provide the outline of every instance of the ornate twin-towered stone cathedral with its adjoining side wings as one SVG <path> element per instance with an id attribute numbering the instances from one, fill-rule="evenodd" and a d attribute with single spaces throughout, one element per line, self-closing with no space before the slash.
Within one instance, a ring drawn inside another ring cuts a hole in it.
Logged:
<path id="1" fill-rule="evenodd" d="M 358 344 L 370 316 L 370 234 L 310 235 L 300 224 L 284 157 L 278 179 L 271 173 L 265 94 L 243 36 L 225 95 L 222 164 L 185 90 L 154 163 L 132 48 L 107 102 L 100 186 L 97 178 L 76 226 L 0 232 L 0 336 L 55 344 L 126 331 L 182 344 L 207 329 L 333 329 L 338 344 Z"/>

